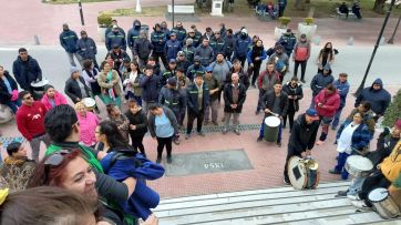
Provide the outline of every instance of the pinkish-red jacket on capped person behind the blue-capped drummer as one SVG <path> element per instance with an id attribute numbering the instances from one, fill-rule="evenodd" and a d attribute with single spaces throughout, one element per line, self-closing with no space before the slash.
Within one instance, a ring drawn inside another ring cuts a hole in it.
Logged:
<path id="1" fill-rule="evenodd" d="M 315 109 L 318 112 L 318 115 L 332 117 L 336 114 L 336 111 L 340 108 L 340 95 L 336 90 L 335 93 L 328 94 L 327 89 L 323 89 L 315 96 Z M 318 104 L 322 103 L 323 106 L 319 108 Z"/>

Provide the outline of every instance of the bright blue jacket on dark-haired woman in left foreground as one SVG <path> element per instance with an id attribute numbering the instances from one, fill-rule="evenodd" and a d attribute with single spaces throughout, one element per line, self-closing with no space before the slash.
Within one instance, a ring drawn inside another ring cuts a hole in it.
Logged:
<path id="1" fill-rule="evenodd" d="M 146 186 L 145 180 L 153 181 L 162 177 L 164 175 L 163 166 L 130 150 L 110 152 L 100 163 L 104 173 L 116 181 L 121 182 L 127 177 L 136 178 L 134 193 L 128 201 L 119 204 L 124 209 L 124 214 L 145 221 L 152 214 L 150 208 L 155 208 L 160 202 L 160 195 Z"/>

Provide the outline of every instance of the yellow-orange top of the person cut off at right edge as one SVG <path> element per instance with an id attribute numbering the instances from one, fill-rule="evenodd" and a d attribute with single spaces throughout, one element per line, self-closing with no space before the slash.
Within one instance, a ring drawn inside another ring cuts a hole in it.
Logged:
<path id="1" fill-rule="evenodd" d="M 391 154 L 383 160 L 380 164 L 381 173 L 390 182 L 395 181 L 395 178 L 401 173 L 401 141 L 397 143 Z"/>

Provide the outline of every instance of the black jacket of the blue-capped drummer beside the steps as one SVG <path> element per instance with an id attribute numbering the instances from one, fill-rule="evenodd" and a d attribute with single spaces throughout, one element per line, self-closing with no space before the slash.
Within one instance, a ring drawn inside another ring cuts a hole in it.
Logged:
<path id="1" fill-rule="evenodd" d="M 289 136 L 288 147 L 295 150 L 298 154 L 315 146 L 316 135 L 319 131 L 319 121 L 307 124 L 305 113 L 300 114 L 294 122 L 291 135 Z"/>

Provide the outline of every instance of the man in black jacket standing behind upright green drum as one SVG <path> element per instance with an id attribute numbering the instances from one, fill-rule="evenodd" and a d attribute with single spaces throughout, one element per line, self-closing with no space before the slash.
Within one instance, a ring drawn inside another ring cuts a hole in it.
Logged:
<path id="1" fill-rule="evenodd" d="M 276 82 L 273 91 L 268 91 L 260 100 L 261 109 L 265 111 L 265 117 L 269 115 L 276 115 L 281 120 L 282 116 L 287 114 L 288 109 L 288 94 L 282 91 L 282 84 Z M 264 137 L 264 122 L 265 117 L 261 121 L 259 137 L 257 139 L 260 142 Z M 277 145 L 281 147 L 281 123 L 278 127 L 278 137 Z"/>

